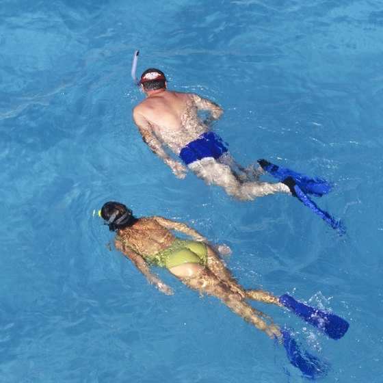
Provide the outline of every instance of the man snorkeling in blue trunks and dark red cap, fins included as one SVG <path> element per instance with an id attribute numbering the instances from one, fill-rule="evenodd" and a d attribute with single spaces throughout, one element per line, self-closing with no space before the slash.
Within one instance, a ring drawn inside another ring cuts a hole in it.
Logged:
<path id="1" fill-rule="evenodd" d="M 339 222 L 321 211 L 307 196 L 328 193 L 330 185 L 326 181 L 278 166 L 276 168 L 283 171 L 276 171 L 274 164 L 265 160 L 260 160 L 260 166 L 256 169 L 254 166 L 244 168 L 230 155 L 226 142 L 210 129 L 210 122 L 224 113 L 222 108 L 194 93 L 168 91 L 165 75 L 155 68 L 142 74 L 140 84 L 146 99 L 133 109 L 133 120 L 144 142 L 178 178 L 184 178 L 190 169 L 206 183 L 221 186 L 227 194 L 242 201 L 276 192 L 289 193 L 330 226 L 340 228 Z M 198 111 L 209 112 L 209 118 L 202 120 Z M 171 157 L 167 149 L 182 162 Z M 275 176 L 278 182 L 260 181 L 259 176 L 265 172 Z M 321 192 L 315 187 L 318 182 Z M 310 187 L 305 188 L 305 185 Z"/>

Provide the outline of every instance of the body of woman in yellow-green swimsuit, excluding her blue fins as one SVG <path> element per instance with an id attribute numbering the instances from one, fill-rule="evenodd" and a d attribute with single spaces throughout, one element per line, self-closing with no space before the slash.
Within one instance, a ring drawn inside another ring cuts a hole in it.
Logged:
<path id="1" fill-rule="evenodd" d="M 166 294 L 172 294 L 153 272 L 151 266 L 166 267 L 188 287 L 220 298 L 226 306 L 272 339 L 280 336 L 278 326 L 268 315 L 256 310 L 246 300 L 257 300 L 280 306 L 278 297 L 262 290 L 245 290 L 218 259 L 206 238 L 181 222 L 153 217 L 134 217 L 119 202 L 107 202 L 100 211 L 110 230 L 117 231 L 114 244 L 146 276 L 149 283 Z M 193 240 L 175 237 L 175 230 Z"/>

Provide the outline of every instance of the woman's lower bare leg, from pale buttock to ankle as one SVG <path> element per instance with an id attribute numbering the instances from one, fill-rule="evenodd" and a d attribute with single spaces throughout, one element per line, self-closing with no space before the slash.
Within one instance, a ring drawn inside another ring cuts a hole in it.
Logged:
<path id="1" fill-rule="evenodd" d="M 272 339 L 275 336 L 280 337 L 279 328 L 271 317 L 252 308 L 239 293 L 232 291 L 226 283 L 221 282 L 206 267 L 196 263 L 184 263 L 183 265 L 171 267 L 169 271 L 187 287 L 219 298 L 231 311 L 259 328 L 259 330 L 266 332 Z"/>

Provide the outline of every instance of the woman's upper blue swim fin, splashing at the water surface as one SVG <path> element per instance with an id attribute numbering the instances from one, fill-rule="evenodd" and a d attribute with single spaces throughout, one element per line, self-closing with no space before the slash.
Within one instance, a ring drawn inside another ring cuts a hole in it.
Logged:
<path id="1" fill-rule="evenodd" d="M 295 300 L 289 294 L 281 295 L 279 302 L 298 317 L 324 332 L 331 339 L 341 339 L 349 328 L 349 323 L 345 319 L 338 317 L 338 315 L 308 306 Z"/>

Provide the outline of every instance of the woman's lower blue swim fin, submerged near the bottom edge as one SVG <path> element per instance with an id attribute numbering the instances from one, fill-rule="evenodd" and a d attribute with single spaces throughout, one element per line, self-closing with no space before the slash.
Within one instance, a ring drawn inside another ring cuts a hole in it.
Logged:
<path id="1" fill-rule="evenodd" d="M 302 371 L 309 380 L 323 378 L 330 370 L 330 365 L 322 362 L 315 356 L 309 354 L 306 350 L 300 349 L 297 341 L 291 337 L 287 330 L 281 330 L 282 344 L 286 349 L 287 358 L 294 367 Z"/>

